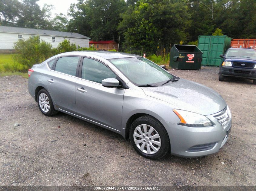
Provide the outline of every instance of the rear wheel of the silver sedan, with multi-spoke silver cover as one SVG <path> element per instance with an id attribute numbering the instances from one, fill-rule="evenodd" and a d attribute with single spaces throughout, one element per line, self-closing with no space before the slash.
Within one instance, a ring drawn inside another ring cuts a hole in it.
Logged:
<path id="1" fill-rule="evenodd" d="M 58 113 L 54 109 L 52 98 L 46 89 L 41 89 L 37 94 L 37 103 L 40 111 L 46 116 L 52 116 Z"/>

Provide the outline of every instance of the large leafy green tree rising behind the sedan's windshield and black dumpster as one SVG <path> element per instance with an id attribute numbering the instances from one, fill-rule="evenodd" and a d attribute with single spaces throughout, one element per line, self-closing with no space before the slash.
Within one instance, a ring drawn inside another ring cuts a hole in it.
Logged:
<path id="1" fill-rule="evenodd" d="M 191 25 L 188 6 L 182 0 L 141 0 L 121 17 L 118 29 L 125 35 L 123 45 L 142 46 L 148 53 L 156 51 L 158 41 L 161 49 L 187 41 L 186 29 Z"/>

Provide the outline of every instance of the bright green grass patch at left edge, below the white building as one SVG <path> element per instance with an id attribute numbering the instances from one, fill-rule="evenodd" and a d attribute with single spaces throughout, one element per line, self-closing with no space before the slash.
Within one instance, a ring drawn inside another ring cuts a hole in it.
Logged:
<path id="1" fill-rule="evenodd" d="M 15 54 L 0 54 L 0 72 L 24 72 L 27 68 L 14 60 Z"/>

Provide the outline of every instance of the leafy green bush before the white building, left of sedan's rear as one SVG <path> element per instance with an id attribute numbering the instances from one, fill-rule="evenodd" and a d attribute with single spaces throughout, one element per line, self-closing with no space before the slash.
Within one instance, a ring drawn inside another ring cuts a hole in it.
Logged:
<path id="1" fill-rule="evenodd" d="M 52 45 L 38 37 L 29 37 L 28 40 L 18 40 L 14 43 L 14 49 L 18 54 L 15 54 L 14 60 L 17 63 L 24 65 L 24 68 L 30 68 L 34 64 L 43 62 L 52 56 Z M 17 68 L 15 66 L 15 68 Z M 7 69 L 7 68 L 6 68 Z"/>

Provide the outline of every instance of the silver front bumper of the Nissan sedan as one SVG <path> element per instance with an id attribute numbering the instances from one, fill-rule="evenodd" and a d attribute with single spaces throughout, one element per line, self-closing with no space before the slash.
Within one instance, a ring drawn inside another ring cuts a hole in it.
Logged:
<path id="1" fill-rule="evenodd" d="M 192 158 L 214 154 L 220 150 L 228 140 L 232 119 L 224 129 L 213 116 L 207 117 L 215 123 L 214 126 L 186 127 L 161 121 L 170 138 L 171 154 Z M 202 148 L 206 150 L 198 151 Z"/>

